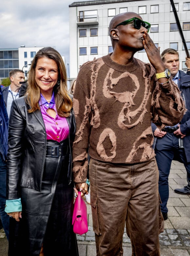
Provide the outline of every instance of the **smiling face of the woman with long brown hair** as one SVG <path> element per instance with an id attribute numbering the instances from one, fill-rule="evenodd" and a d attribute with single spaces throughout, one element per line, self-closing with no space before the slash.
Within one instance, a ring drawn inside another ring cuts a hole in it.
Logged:
<path id="1" fill-rule="evenodd" d="M 53 59 L 47 57 L 38 59 L 35 68 L 35 80 L 43 95 L 52 95 L 58 75 L 58 67 Z"/>

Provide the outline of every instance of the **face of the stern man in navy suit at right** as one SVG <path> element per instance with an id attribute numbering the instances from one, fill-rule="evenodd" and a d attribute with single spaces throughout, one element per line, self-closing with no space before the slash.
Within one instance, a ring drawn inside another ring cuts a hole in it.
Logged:
<path id="1" fill-rule="evenodd" d="M 167 69 L 170 70 L 172 76 L 176 75 L 180 67 L 179 55 L 166 53 L 164 55 L 163 64 Z"/>

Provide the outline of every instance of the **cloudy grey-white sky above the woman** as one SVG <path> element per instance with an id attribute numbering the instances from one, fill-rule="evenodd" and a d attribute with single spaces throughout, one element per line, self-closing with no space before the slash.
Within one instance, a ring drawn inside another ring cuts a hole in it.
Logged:
<path id="1" fill-rule="evenodd" d="M 81 0 L 84 1 L 84 0 Z M 55 46 L 69 63 L 72 0 L 2 0 L 0 48 Z"/>

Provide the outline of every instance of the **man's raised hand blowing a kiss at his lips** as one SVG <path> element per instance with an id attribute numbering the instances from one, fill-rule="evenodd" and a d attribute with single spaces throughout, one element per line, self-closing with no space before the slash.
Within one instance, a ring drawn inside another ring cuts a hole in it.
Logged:
<path id="1" fill-rule="evenodd" d="M 143 38 L 144 50 L 146 51 L 150 63 L 156 69 L 157 73 L 162 73 L 165 67 L 160 56 L 160 47 L 157 48 L 155 46 L 147 31 L 144 32 Z"/>

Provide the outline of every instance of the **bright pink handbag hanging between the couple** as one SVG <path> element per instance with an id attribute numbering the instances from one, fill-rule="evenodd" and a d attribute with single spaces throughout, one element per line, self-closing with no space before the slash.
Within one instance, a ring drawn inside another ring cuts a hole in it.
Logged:
<path id="1" fill-rule="evenodd" d="M 75 234 L 82 235 L 88 231 L 87 207 L 80 191 L 78 191 L 78 196 L 74 202 L 72 224 Z"/>

